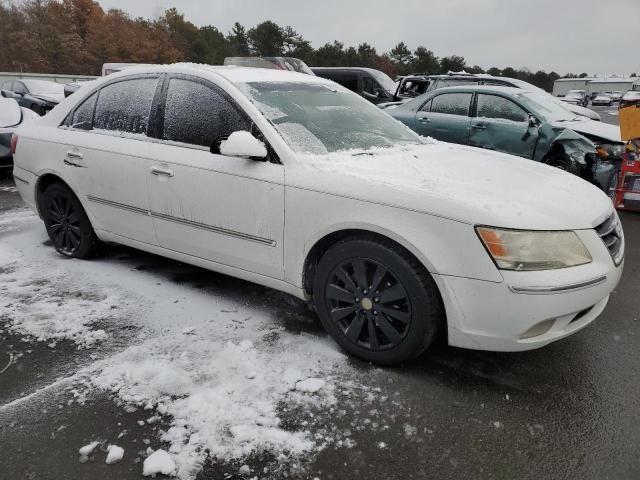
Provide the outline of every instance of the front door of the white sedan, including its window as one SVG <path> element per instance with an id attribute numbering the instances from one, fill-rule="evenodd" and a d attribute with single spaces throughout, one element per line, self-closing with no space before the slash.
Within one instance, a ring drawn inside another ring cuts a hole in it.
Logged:
<path id="1" fill-rule="evenodd" d="M 151 217 L 164 248 L 269 277 L 283 275 L 284 167 L 211 153 L 251 121 L 219 87 L 172 76 L 147 165 Z"/>

